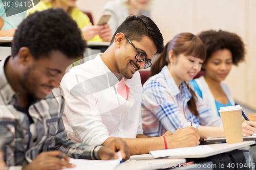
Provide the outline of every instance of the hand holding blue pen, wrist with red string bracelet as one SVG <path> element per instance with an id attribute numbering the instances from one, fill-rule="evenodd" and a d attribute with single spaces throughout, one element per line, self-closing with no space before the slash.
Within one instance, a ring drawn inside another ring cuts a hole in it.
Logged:
<path id="1" fill-rule="evenodd" d="M 196 147 L 200 143 L 198 132 L 198 129 L 191 126 L 177 129 L 173 135 L 165 136 L 168 149 Z"/>

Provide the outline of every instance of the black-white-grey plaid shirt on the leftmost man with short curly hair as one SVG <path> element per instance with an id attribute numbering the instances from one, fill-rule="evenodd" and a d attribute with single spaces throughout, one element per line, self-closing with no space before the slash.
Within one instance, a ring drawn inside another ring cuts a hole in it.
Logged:
<path id="1" fill-rule="evenodd" d="M 99 147 L 95 149 L 95 146 L 66 140 L 61 119 L 65 99 L 60 88 L 54 88 L 45 99 L 37 100 L 29 107 L 33 124 L 26 113 L 15 109 L 18 96 L 4 74 L 7 60 L 0 62 L 0 146 L 5 152 L 7 166 L 21 169 L 20 165 L 30 163 L 41 152 L 52 150 L 72 158 L 93 159 Z M 34 136 L 33 140 L 31 136 Z"/>

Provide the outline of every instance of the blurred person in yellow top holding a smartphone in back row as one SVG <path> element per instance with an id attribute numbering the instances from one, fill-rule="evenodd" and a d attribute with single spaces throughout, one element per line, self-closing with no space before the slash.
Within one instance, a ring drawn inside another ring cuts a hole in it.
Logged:
<path id="1" fill-rule="evenodd" d="M 62 8 L 76 21 L 84 40 L 109 42 L 112 38 L 112 31 L 109 25 L 92 26 L 89 17 L 76 8 L 75 3 L 76 0 L 41 0 L 35 7 L 27 11 L 27 15 L 49 8 Z"/>

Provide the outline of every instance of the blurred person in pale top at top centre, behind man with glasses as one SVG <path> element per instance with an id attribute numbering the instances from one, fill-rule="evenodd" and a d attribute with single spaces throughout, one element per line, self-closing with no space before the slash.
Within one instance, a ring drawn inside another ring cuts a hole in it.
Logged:
<path id="1" fill-rule="evenodd" d="M 105 4 L 102 14 L 109 14 L 111 18 L 109 25 L 114 34 L 117 27 L 129 15 L 145 15 L 150 17 L 149 11 L 150 0 L 116 0 Z"/>

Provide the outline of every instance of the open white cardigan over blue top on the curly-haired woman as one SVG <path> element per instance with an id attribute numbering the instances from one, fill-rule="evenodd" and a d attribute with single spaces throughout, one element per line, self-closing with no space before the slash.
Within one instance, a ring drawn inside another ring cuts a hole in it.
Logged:
<path id="1" fill-rule="evenodd" d="M 195 81 L 197 82 L 199 88 L 202 91 L 202 96 L 203 96 L 204 102 L 207 103 L 208 106 L 210 107 L 210 109 L 218 115 L 218 110 L 216 108 L 214 95 L 212 95 L 212 93 L 209 89 L 209 86 L 206 83 L 204 77 L 201 76 L 200 78 L 195 79 Z M 232 96 L 228 86 L 224 82 L 221 82 L 221 88 L 224 91 L 225 95 L 227 96 L 227 99 L 229 100 L 229 102 L 232 105 L 234 105 L 234 99 L 233 99 L 233 96 Z"/>

